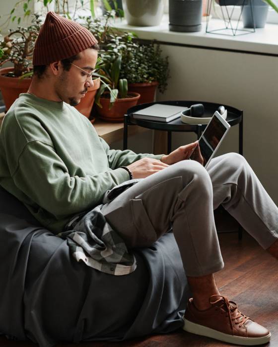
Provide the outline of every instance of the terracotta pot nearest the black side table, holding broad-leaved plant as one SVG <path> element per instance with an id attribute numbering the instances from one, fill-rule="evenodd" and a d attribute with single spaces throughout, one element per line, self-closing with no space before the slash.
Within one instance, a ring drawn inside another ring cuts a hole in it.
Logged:
<path id="1" fill-rule="evenodd" d="M 97 106 L 99 117 L 103 120 L 111 122 L 121 122 L 124 120 L 124 115 L 128 109 L 135 106 L 138 103 L 140 94 L 130 93 L 130 98 L 116 99 L 114 105 L 109 110 L 110 98 L 100 98 L 100 104 L 102 108 Z"/>

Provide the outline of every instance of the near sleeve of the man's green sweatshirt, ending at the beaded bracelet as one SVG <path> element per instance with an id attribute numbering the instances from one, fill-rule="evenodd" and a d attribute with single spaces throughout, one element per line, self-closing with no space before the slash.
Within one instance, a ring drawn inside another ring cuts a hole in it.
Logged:
<path id="1" fill-rule="evenodd" d="M 95 175 L 70 176 L 69 171 L 48 143 L 28 142 L 12 174 L 15 185 L 56 218 L 93 208 L 104 193 L 129 179 L 124 169 Z"/>

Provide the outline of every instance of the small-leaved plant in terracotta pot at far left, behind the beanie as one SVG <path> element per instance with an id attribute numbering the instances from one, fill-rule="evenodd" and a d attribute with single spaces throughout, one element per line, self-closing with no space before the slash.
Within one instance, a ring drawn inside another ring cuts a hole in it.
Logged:
<path id="1" fill-rule="evenodd" d="M 13 64 L 13 67 L 0 68 L 0 89 L 6 110 L 20 93 L 26 93 L 29 88 L 32 55 L 40 26 L 41 21 L 34 14 L 30 26 L 9 30 L 9 34 L 0 41 L 0 67 L 7 62 Z"/>

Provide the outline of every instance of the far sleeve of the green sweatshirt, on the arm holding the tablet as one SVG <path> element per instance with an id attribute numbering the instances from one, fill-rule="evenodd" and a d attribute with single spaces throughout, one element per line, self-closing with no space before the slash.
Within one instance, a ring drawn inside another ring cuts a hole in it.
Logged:
<path id="1" fill-rule="evenodd" d="M 142 158 L 147 157 L 147 158 L 160 160 L 163 156 L 163 154 L 159 154 L 159 155 L 147 154 L 147 153 L 136 154 L 130 150 L 121 151 L 121 150 L 110 149 L 108 144 L 101 137 L 99 137 L 99 139 L 106 152 L 107 159 L 109 162 L 109 167 L 112 170 L 117 169 L 121 166 L 130 165 Z"/>

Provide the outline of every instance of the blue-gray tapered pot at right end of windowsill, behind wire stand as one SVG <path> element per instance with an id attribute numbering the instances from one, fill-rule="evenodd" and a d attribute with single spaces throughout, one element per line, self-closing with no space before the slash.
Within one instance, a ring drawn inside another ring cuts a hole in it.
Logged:
<path id="1" fill-rule="evenodd" d="M 251 0 L 251 1 L 253 3 L 253 15 L 254 15 L 255 27 L 264 28 L 267 21 L 269 5 L 262 0 Z M 245 28 L 254 27 L 250 1 L 248 2 L 247 5 L 243 6 L 242 21 L 243 21 L 243 26 Z"/>

